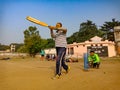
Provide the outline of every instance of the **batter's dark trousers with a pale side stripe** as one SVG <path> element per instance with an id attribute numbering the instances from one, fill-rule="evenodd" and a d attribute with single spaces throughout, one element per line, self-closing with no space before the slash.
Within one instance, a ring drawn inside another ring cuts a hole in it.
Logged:
<path id="1" fill-rule="evenodd" d="M 65 55 L 66 48 L 65 47 L 56 47 L 56 74 L 61 75 L 62 67 L 67 70 L 68 66 L 65 64 Z"/>

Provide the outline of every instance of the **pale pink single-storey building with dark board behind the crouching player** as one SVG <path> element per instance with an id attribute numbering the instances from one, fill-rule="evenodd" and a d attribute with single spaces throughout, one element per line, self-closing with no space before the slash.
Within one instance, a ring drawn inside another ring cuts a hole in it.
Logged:
<path id="1" fill-rule="evenodd" d="M 67 55 L 72 57 L 83 57 L 84 53 L 89 53 L 90 50 L 94 50 L 101 57 L 113 57 L 116 56 L 115 43 L 95 36 L 89 41 L 83 43 L 68 44 Z"/>

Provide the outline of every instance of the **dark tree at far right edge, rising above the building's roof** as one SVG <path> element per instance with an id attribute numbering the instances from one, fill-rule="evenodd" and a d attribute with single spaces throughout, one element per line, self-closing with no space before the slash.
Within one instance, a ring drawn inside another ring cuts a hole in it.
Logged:
<path id="1" fill-rule="evenodd" d="M 104 38 L 109 41 L 114 41 L 114 27 L 120 26 L 120 22 L 112 19 L 112 21 L 105 22 L 103 26 L 101 26 L 100 30 L 104 31 Z"/>

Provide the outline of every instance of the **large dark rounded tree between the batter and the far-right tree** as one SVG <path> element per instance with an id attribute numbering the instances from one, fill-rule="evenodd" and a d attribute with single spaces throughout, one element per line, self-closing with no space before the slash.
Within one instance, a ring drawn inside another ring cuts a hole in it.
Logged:
<path id="1" fill-rule="evenodd" d="M 102 37 L 103 32 L 97 29 L 97 26 L 90 20 L 80 24 L 79 32 L 73 33 L 67 38 L 68 43 L 84 42 L 94 36 Z"/>

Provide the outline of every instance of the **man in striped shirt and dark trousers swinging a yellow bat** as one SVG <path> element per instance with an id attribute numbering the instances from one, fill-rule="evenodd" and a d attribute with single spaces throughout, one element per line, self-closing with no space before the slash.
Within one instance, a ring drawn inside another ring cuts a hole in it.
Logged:
<path id="1" fill-rule="evenodd" d="M 62 28 L 62 23 L 57 23 L 56 26 L 49 26 L 51 37 L 55 40 L 55 47 L 56 47 L 56 74 L 55 78 L 59 78 L 61 75 L 61 69 L 62 67 L 68 72 L 70 67 L 65 64 L 65 55 L 66 55 L 66 33 L 67 29 Z M 53 32 L 53 30 L 56 30 L 56 33 Z"/>

